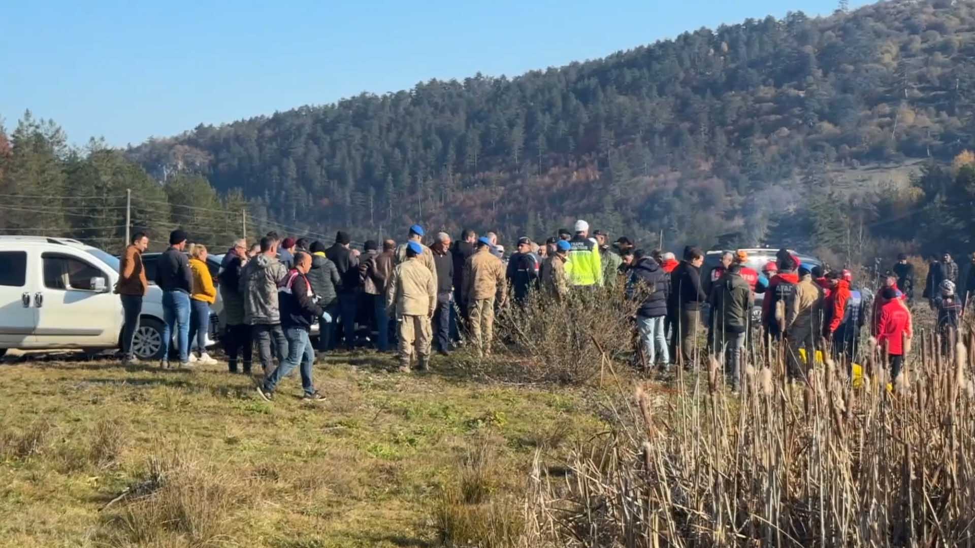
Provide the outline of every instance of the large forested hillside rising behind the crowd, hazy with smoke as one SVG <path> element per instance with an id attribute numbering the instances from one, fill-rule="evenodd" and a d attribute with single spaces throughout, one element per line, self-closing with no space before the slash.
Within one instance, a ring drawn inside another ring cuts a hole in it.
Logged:
<path id="1" fill-rule="evenodd" d="M 411 222 L 510 240 L 582 216 L 674 246 L 918 250 L 942 242 L 902 225 L 966 191 L 876 174 L 947 167 L 973 145 L 973 99 L 975 5 L 895 1 L 201 125 L 125 155 L 164 189 L 207 177 L 212 207 L 230 193 L 232 211 L 247 200 L 258 218 L 357 240 Z"/>

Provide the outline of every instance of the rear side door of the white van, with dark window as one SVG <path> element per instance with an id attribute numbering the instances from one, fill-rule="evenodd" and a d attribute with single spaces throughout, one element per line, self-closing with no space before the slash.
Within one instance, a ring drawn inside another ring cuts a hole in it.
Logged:
<path id="1" fill-rule="evenodd" d="M 37 308 L 30 281 L 39 259 L 25 251 L 0 252 L 0 347 L 20 348 L 34 341 Z"/>

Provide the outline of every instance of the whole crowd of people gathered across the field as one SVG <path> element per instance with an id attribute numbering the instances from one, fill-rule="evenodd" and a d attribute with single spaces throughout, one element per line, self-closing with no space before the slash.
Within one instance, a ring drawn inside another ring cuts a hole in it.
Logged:
<path id="1" fill-rule="evenodd" d="M 832 352 L 852 362 L 868 321 L 896 376 L 905 341 L 912 336 L 908 303 L 915 276 L 903 255 L 874 295 L 855 287 L 850 271 L 803 263 L 787 250 L 780 250 L 761 273 L 747 266 L 746 251 L 722 252 L 720 264 L 702 273 L 705 254 L 698 248 L 685 248 L 679 261 L 672 253 L 636 249 L 626 237 L 610 243 L 603 231 L 590 233 L 585 220 L 541 244 L 519 238 L 506 261 L 491 232 L 479 236 L 464 230 L 453 241 L 446 232 L 428 238 L 414 224 L 406 237 L 399 245 L 392 239 L 370 240 L 361 250 L 353 249 L 344 231 L 328 247 L 275 232 L 251 247 L 239 239 L 224 254 L 215 281 L 206 247 L 188 244 L 188 235 L 174 230 L 154 280 L 163 291 L 166 320 L 160 366 L 170 367 L 173 333 L 178 367 L 216 363 L 206 341 L 217 292 L 228 371 L 250 374 L 256 343 L 264 373 L 257 391 L 268 401 L 294 369 L 300 372 L 304 398 L 322 400 L 312 366 L 317 355 L 340 346 L 370 344 L 386 352 L 395 343 L 402 372 L 428 370 L 434 347 L 448 355 L 461 341 L 486 356 L 495 311 L 509 299 L 524 303 L 531 292 L 564 299 L 604 287 L 638 299 L 634 320 L 645 366 L 691 368 L 714 356 L 724 364 L 732 389 L 739 386 L 746 348 L 759 335 L 787 341 L 789 374 L 796 378 L 811 362 L 800 359 L 800 350 L 805 356 Z M 133 339 L 148 288 L 141 261 L 147 246 L 144 233 L 134 235 L 121 257 L 116 288 L 125 309 L 122 351 L 128 364 L 137 362 Z M 975 278 L 975 268 L 970 270 Z M 925 282 L 923 296 L 937 311 L 943 333 L 956 330 L 962 314 L 957 278 L 957 265 L 945 254 L 931 264 Z M 762 299 L 761 318 L 753 318 L 757 298 Z M 357 331 L 360 319 L 365 335 Z M 701 328 L 708 333 L 703 345 Z M 311 336 L 315 329 L 317 346 Z"/>

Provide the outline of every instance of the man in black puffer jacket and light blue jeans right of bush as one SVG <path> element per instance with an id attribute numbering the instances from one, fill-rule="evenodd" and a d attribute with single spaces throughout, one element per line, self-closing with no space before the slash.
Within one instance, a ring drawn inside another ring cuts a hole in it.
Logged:
<path id="1" fill-rule="evenodd" d="M 637 328 L 643 344 L 643 357 L 646 366 L 653 367 L 659 355 L 660 364 L 670 370 L 670 353 L 667 348 L 667 333 L 664 320 L 667 317 L 667 298 L 670 295 L 670 274 L 664 272 L 657 261 L 643 250 L 634 254 L 633 266 L 627 284 L 627 294 L 633 297 L 639 286 L 650 292 L 637 311 Z"/>

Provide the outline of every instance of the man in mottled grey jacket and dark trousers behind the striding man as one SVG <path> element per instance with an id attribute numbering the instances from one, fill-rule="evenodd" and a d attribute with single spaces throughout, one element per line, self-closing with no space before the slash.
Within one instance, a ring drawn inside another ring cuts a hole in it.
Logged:
<path id="1" fill-rule="evenodd" d="M 251 326 L 257 339 L 260 367 L 264 374 L 274 369 L 271 344 L 278 358 L 288 355 L 288 339 L 281 329 L 278 286 L 288 276 L 288 268 L 278 259 L 278 243 L 267 236 L 260 240 L 260 254 L 241 271 L 240 288 L 244 294 L 244 323 Z"/>

